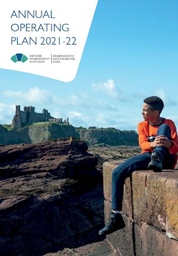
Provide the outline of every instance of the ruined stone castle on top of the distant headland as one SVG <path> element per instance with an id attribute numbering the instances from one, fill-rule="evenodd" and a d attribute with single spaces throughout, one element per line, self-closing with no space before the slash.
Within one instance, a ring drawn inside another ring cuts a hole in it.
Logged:
<path id="1" fill-rule="evenodd" d="M 36 113 L 34 111 L 34 107 L 24 107 L 24 111 L 20 110 L 20 105 L 15 106 L 15 115 L 12 119 L 12 127 L 13 128 L 21 128 L 23 127 L 23 124 L 32 124 L 32 123 L 38 123 L 38 122 L 53 122 L 53 123 L 59 123 L 59 124 L 69 124 L 69 118 L 62 121 L 62 118 L 55 118 L 50 115 L 50 113 L 43 109 L 42 113 Z"/>

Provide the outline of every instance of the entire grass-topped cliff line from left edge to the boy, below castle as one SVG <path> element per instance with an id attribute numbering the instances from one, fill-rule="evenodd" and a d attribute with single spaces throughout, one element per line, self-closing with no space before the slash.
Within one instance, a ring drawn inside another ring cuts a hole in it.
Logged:
<path id="1" fill-rule="evenodd" d="M 0 144 L 38 143 L 48 139 L 80 138 L 87 145 L 128 145 L 138 146 L 138 135 L 135 131 L 120 131 L 115 128 L 84 129 L 70 124 L 52 122 L 34 123 L 23 128 L 8 130 L 0 125 Z"/>

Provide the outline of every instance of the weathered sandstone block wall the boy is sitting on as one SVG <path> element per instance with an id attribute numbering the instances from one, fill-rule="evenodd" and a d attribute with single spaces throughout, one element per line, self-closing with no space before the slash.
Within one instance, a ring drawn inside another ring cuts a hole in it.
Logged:
<path id="1" fill-rule="evenodd" d="M 120 163 L 103 164 L 106 222 L 111 209 L 112 170 Z M 178 165 L 162 173 L 135 171 L 126 179 L 122 204 L 126 227 L 107 235 L 117 255 L 178 255 Z"/>

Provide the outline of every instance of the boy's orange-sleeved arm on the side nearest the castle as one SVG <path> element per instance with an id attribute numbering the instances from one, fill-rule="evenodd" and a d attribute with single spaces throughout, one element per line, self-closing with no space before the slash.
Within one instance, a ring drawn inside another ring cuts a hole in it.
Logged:
<path id="1" fill-rule="evenodd" d="M 151 142 L 148 141 L 148 138 L 145 133 L 144 127 L 142 126 L 142 123 L 138 124 L 138 142 L 142 150 L 152 152 L 152 148 L 150 146 Z"/>

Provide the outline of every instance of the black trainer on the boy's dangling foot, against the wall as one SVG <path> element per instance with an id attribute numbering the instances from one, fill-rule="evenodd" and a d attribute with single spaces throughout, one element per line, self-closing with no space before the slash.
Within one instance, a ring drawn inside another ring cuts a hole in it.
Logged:
<path id="1" fill-rule="evenodd" d="M 101 229 L 99 235 L 109 235 L 110 233 L 115 232 L 116 230 L 123 229 L 125 223 L 123 221 L 122 215 L 120 213 L 110 213 L 109 222 L 106 224 L 103 229 Z"/>

